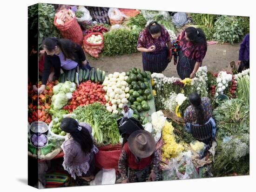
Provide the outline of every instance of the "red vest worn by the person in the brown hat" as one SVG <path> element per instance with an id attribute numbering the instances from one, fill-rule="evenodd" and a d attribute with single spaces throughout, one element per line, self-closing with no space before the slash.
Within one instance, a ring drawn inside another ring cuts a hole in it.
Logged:
<path id="1" fill-rule="evenodd" d="M 140 162 L 137 163 L 134 154 L 132 154 L 128 147 L 128 143 L 125 143 L 123 147 L 127 155 L 127 166 L 130 167 L 131 169 L 142 170 L 151 164 L 153 159 L 152 155 L 147 158 L 141 158 Z"/>

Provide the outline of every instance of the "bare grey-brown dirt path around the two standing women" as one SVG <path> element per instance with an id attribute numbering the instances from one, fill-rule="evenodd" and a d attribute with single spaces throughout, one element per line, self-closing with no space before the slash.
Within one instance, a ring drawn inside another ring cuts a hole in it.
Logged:
<path id="1" fill-rule="evenodd" d="M 213 72 L 220 70 L 230 71 L 229 63 L 231 61 L 237 62 L 239 47 L 240 43 L 235 45 L 208 45 L 208 51 L 202 61 L 202 65 L 206 65 L 208 70 Z M 88 58 L 88 61 L 91 66 L 105 70 L 107 73 L 128 71 L 132 67 L 142 70 L 141 52 L 115 57 L 102 56 L 97 60 Z M 178 77 L 173 60 L 168 64 L 163 74 L 167 77 Z"/>

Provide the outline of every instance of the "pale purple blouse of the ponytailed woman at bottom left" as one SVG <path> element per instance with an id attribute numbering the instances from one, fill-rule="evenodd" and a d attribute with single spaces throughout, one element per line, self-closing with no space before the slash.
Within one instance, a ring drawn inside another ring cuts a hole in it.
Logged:
<path id="1" fill-rule="evenodd" d="M 81 122 L 79 125 L 87 128 L 89 133 L 92 134 L 91 126 L 88 123 Z M 86 174 L 88 172 L 90 168 L 89 162 L 93 155 L 99 151 L 97 147 L 93 146 L 91 153 L 86 154 L 82 151 L 81 145 L 74 141 L 72 137 L 64 141 L 61 148 L 64 152 L 62 166 L 74 179 L 76 179 L 76 176 L 81 177 L 83 173 Z"/>

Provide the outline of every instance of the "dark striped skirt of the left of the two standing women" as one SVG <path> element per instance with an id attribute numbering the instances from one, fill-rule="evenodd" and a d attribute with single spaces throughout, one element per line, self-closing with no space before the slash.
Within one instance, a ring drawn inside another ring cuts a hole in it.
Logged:
<path id="1" fill-rule="evenodd" d="M 168 65 L 168 50 L 163 49 L 158 54 L 150 52 L 142 52 L 143 70 L 148 70 L 151 73 L 161 73 Z"/>

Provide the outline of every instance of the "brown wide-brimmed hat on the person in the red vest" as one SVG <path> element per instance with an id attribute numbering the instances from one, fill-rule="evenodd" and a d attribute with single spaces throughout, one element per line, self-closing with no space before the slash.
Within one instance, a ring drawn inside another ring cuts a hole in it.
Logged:
<path id="1" fill-rule="evenodd" d="M 136 157 L 147 158 L 155 151 L 155 139 L 145 130 L 137 130 L 128 138 L 128 147 Z"/>

